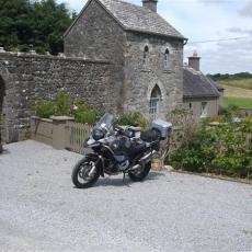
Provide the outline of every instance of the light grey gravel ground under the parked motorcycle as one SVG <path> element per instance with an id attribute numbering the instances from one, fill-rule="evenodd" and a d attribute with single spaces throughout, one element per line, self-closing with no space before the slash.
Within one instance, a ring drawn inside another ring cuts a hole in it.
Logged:
<path id="1" fill-rule="evenodd" d="M 0 251 L 252 251 L 252 186 L 152 172 L 72 186 L 81 156 L 24 141 L 0 156 Z"/>

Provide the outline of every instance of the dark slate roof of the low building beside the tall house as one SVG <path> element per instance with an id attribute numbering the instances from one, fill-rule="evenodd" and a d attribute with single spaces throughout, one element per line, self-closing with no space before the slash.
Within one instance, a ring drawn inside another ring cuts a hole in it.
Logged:
<path id="1" fill-rule="evenodd" d="M 184 68 L 184 98 L 219 98 L 217 84 L 193 68 Z"/>

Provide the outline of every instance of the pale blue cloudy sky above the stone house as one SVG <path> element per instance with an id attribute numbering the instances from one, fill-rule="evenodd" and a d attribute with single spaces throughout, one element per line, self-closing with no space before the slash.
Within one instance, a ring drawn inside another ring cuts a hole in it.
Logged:
<path id="1" fill-rule="evenodd" d="M 87 2 L 57 1 L 78 13 Z M 205 73 L 252 72 L 252 0 L 159 0 L 158 13 L 188 38 L 184 62 L 196 50 Z"/>

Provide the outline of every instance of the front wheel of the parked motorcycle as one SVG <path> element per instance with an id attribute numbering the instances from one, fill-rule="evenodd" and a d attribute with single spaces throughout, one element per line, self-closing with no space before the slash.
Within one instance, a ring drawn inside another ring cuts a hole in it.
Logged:
<path id="1" fill-rule="evenodd" d="M 73 168 L 71 180 L 77 188 L 93 186 L 100 176 L 95 160 L 83 158 Z"/>

